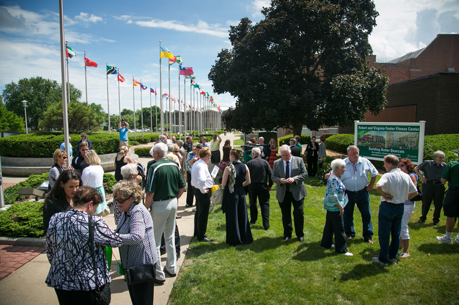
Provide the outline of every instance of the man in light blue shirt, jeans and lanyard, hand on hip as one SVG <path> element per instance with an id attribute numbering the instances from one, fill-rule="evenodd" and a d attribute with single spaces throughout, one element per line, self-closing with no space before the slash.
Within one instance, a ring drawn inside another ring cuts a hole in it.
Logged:
<path id="1" fill-rule="evenodd" d="M 357 204 L 362 215 L 363 239 L 372 245 L 374 244 L 372 240 L 373 224 L 371 223 L 369 192 L 373 190 L 378 170 L 368 159 L 359 157 L 359 148 L 357 146 L 349 146 L 347 155 L 348 157 L 344 159 L 346 171 L 340 177 L 349 199 L 349 202 L 344 207 L 344 233 L 347 239 L 355 237 L 354 206 Z M 370 181 L 368 181 L 368 173 L 371 176 Z M 325 178 L 328 179 L 328 176 Z"/>

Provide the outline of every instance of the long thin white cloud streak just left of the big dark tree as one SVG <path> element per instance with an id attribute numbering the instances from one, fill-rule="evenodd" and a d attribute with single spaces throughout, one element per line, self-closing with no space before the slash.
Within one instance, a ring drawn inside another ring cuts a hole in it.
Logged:
<path id="1" fill-rule="evenodd" d="M 196 25 L 185 25 L 176 20 L 151 19 L 150 21 L 135 21 L 137 25 L 144 27 L 164 28 L 180 32 L 195 32 L 218 37 L 227 37 L 228 28 L 220 28 L 218 25 L 209 25 L 206 21 L 198 20 Z"/>

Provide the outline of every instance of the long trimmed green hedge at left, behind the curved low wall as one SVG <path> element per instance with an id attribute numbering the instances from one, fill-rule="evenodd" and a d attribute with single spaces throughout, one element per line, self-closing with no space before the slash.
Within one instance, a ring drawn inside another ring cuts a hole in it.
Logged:
<path id="1" fill-rule="evenodd" d="M 79 134 L 70 134 L 73 155 L 76 154 Z M 92 133 L 88 135 L 92 148 L 99 155 L 119 151 L 119 134 Z M 5 157 L 52 158 L 54 151 L 64 141 L 64 135 L 40 135 L 38 133 L 19 134 L 0 138 L 0 155 Z"/>

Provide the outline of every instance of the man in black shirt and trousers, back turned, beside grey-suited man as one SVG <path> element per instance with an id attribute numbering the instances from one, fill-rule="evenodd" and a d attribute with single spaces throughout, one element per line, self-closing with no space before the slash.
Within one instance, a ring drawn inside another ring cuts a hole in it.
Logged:
<path id="1" fill-rule="evenodd" d="M 248 185 L 248 196 L 250 198 L 250 223 L 254 224 L 258 218 L 256 198 L 260 202 L 261 218 L 263 228 L 269 228 L 269 191 L 273 182 L 271 180 L 272 170 L 268 161 L 260 158 L 261 151 L 258 147 L 252 148 L 252 160 L 247 162 L 250 171 L 250 184 Z M 269 186 L 266 185 L 269 179 Z"/>

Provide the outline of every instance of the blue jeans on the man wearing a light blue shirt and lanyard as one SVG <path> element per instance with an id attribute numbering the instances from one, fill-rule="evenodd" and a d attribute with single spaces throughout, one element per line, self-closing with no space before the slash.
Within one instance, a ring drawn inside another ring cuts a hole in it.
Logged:
<path id="1" fill-rule="evenodd" d="M 360 194 L 355 194 L 347 190 L 346 194 L 349 202 L 344 207 L 344 233 L 347 237 L 355 237 L 354 206 L 357 203 L 357 207 L 362 215 L 363 239 L 371 239 L 373 237 L 373 224 L 371 223 L 370 194 L 368 194 L 367 188 L 364 188 Z"/>

